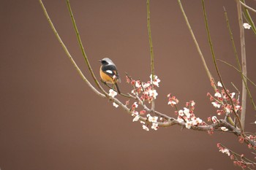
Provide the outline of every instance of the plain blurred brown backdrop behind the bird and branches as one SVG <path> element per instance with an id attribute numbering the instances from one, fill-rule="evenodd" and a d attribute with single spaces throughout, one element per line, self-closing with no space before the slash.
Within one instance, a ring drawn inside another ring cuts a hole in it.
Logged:
<path id="1" fill-rule="evenodd" d="M 43 1 L 75 61 L 89 77 L 65 1 Z M 256 7 L 255 1 L 248 1 Z M 216 77 L 206 38 L 200 1 L 183 1 L 195 36 Z M 146 0 L 72 1 L 80 36 L 99 77 L 99 59 L 112 58 L 123 80 L 125 72 L 147 81 L 150 53 Z M 236 65 L 225 23 L 227 9 L 240 54 L 235 1 L 206 1 L 217 58 Z M 50 29 L 39 1 L 1 1 L 0 168 L 14 169 L 239 169 L 217 149 L 217 142 L 246 155 L 233 134 L 181 130 L 143 131 L 140 123 L 96 96 L 81 80 Z M 255 18 L 255 14 L 252 14 Z M 256 19 L 256 18 L 255 18 Z M 213 90 L 181 15 L 177 1 L 151 1 L 155 72 L 161 79 L 156 109 L 170 116 L 167 93 L 195 100 L 203 120 L 215 115 L 206 96 Z M 255 35 L 245 30 L 248 76 L 255 78 Z M 241 89 L 238 72 L 219 63 L 222 77 Z M 217 77 L 216 77 L 217 78 Z M 89 78 L 91 80 L 91 78 Z M 255 87 L 252 94 L 255 96 Z M 121 98 L 121 97 L 118 97 Z M 121 98 L 122 101 L 125 99 Z M 248 102 L 249 103 L 249 102 Z M 248 104 L 246 131 L 255 131 L 255 112 Z"/>

